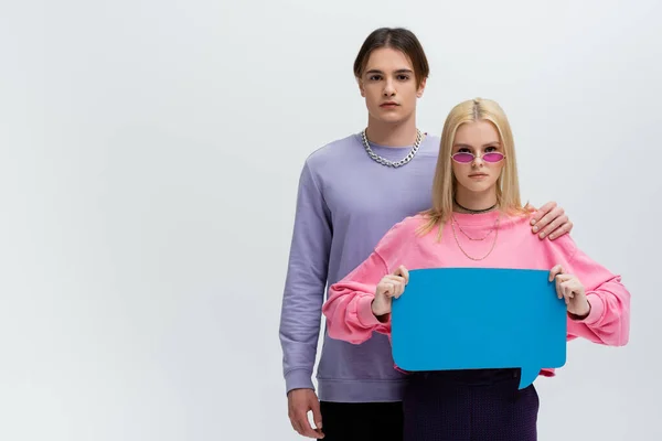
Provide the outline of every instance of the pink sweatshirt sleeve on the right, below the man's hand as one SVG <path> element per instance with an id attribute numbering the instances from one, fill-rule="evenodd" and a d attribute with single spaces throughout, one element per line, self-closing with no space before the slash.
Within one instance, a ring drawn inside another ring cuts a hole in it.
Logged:
<path id="1" fill-rule="evenodd" d="M 557 239 L 558 240 L 558 239 Z M 608 346 L 624 346 L 630 338 L 630 292 L 621 277 L 611 273 L 578 249 L 569 238 L 564 272 L 575 275 L 584 284 L 590 312 L 583 320 L 568 319 L 568 341 L 584 337 Z"/>

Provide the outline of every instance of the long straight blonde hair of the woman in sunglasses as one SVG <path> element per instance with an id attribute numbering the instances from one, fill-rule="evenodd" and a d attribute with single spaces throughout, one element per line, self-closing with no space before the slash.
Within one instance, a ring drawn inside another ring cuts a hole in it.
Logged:
<path id="1" fill-rule="evenodd" d="M 452 173 L 450 158 L 456 132 L 466 122 L 481 120 L 489 121 L 496 128 L 505 154 L 505 164 L 496 181 L 498 208 L 509 215 L 527 213 L 520 201 L 515 146 L 505 112 L 493 100 L 476 98 L 458 104 L 446 118 L 433 182 L 433 207 L 423 213 L 427 217 L 427 223 L 420 227 L 419 233 L 427 234 L 433 228 L 439 227 L 439 238 L 441 237 L 444 224 L 452 214 L 453 198 L 457 191 L 457 180 Z"/>

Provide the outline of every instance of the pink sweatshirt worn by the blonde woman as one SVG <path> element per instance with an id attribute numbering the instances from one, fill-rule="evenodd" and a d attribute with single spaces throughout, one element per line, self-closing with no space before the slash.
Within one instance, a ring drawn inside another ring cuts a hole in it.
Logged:
<path id="1" fill-rule="evenodd" d="M 416 234 L 425 222 L 423 215 L 405 218 L 386 233 L 367 259 L 332 284 L 322 308 L 329 336 L 360 344 L 369 340 L 373 331 L 391 335 L 391 321 L 377 321 L 371 303 L 377 283 L 401 265 L 408 270 L 451 267 L 551 270 L 559 263 L 564 272 L 573 273 L 581 281 L 591 306 L 586 319 L 568 319 L 567 340 L 584 337 L 610 346 L 628 343 L 630 293 L 619 276 L 579 250 L 569 235 L 556 240 L 541 240 L 531 232 L 527 216 L 499 216 L 498 212 L 456 213 L 453 216 L 456 234 L 448 222 L 440 243 L 436 240 L 437 228 L 425 236 Z M 494 230 L 499 217 L 499 228 Z M 496 244 L 484 260 L 471 260 L 462 252 L 463 249 L 471 257 L 483 257 L 492 247 L 495 233 Z M 468 236 L 473 239 L 487 237 L 470 240 Z M 406 288 L 403 295 L 407 295 Z M 541 374 L 553 376 L 554 369 L 544 368 Z"/>

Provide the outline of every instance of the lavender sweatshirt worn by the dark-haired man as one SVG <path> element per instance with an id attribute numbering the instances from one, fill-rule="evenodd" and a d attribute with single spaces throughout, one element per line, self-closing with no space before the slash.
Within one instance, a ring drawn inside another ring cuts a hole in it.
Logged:
<path id="1" fill-rule="evenodd" d="M 392 161 L 405 158 L 410 148 L 371 144 Z M 328 287 L 365 260 L 396 223 L 430 207 L 438 150 L 439 138 L 428 135 L 414 159 L 395 169 L 373 161 L 355 133 L 306 160 L 280 319 L 287 391 L 313 388 Z M 399 401 L 405 384 L 385 335 L 354 345 L 330 338 L 325 331 L 317 380 L 320 400 L 339 402 Z"/>

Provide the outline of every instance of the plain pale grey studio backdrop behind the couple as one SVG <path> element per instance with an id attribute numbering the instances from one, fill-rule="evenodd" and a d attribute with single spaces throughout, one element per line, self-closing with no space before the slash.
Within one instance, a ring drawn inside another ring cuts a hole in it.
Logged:
<path id="1" fill-rule="evenodd" d="M 0 4 L 0 439 L 299 439 L 297 180 L 365 126 L 351 67 L 381 25 L 428 53 L 419 127 L 499 100 L 524 196 L 632 292 L 627 347 L 574 342 L 536 381 L 540 439 L 662 437 L 660 2 Z"/>

